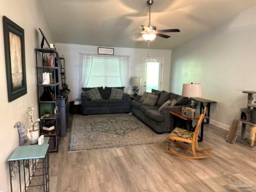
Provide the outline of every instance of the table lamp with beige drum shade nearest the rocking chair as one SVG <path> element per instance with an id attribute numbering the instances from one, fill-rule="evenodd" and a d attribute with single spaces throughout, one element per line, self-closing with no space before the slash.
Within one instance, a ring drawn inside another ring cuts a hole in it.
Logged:
<path id="1" fill-rule="evenodd" d="M 202 89 L 200 83 L 185 83 L 182 87 L 182 96 L 188 97 L 186 99 L 186 106 L 196 109 L 197 102 L 193 97 L 201 97 Z"/>

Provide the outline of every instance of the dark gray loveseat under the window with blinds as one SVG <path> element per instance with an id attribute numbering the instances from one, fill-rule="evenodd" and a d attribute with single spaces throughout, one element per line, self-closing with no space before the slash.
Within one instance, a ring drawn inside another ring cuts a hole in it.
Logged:
<path id="1" fill-rule="evenodd" d="M 82 88 L 84 92 L 81 94 L 82 114 L 106 114 L 106 113 L 130 113 L 131 98 L 127 93 L 122 94 L 122 99 L 109 99 L 111 94 L 111 87 L 97 87 L 102 99 L 90 100 L 87 90 L 93 88 Z M 124 87 L 115 87 L 116 89 L 123 90 Z"/>

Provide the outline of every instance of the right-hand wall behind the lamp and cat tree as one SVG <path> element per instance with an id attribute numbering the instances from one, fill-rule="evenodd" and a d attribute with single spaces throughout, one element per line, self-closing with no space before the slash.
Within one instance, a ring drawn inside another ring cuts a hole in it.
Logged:
<path id="1" fill-rule="evenodd" d="M 256 91 L 255 18 L 256 6 L 172 50 L 170 90 L 180 94 L 183 83 L 202 83 L 202 98 L 218 102 L 211 122 L 223 128 L 246 108 L 242 91 Z"/>

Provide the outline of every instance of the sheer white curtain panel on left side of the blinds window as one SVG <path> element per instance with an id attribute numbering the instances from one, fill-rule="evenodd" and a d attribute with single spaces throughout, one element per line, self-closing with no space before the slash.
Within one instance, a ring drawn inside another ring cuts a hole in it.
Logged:
<path id="1" fill-rule="evenodd" d="M 79 76 L 79 96 L 81 98 L 82 88 L 86 87 L 89 81 L 92 68 L 93 54 L 80 53 L 80 76 Z"/>

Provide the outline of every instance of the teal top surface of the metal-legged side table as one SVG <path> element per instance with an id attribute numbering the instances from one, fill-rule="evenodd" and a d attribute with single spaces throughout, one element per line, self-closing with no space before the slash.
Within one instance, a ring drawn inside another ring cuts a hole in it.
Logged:
<path id="1" fill-rule="evenodd" d="M 44 137 L 44 143 L 42 145 L 18 146 L 12 152 L 8 161 L 44 158 L 49 147 L 48 140 L 49 137 Z"/>

